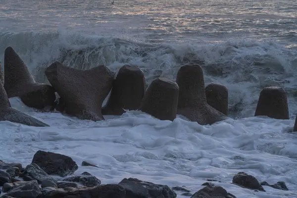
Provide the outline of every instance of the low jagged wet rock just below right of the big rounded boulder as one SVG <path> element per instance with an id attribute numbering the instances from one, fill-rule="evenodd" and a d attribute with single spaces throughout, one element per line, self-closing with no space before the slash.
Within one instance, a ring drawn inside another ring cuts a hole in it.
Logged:
<path id="1" fill-rule="evenodd" d="M 101 181 L 88 172 L 83 172 L 81 176 L 74 176 L 63 179 L 63 181 L 79 182 L 86 187 L 93 187 L 101 184 Z"/>

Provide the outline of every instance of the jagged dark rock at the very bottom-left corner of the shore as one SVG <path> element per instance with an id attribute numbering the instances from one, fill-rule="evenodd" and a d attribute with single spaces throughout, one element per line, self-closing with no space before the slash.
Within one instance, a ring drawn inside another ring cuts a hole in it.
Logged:
<path id="1" fill-rule="evenodd" d="M 38 182 L 32 180 L 29 182 L 19 182 L 15 184 L 13 188 L 6 193 L 6 196 L 15 198 L 40 198 L 42 193 L 39 189 Z"/>

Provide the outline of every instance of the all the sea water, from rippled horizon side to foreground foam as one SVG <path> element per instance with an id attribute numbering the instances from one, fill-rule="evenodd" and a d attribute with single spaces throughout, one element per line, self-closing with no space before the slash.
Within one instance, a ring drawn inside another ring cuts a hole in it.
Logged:
<path id="1" fill-rule="evenodd" d="M 14 108 L 50 125 L 0 122 L 0 159 L 27 165 L 39 150 L 71 156 L 102 184 L 123 178 L 192 193 L 206 179 L 238 198 L 297 198 L 296 0 L 1 0 L 0 61 L 14 48 L 38 82 L 53 61 L 117 72 L 138 65 L 148 84 L 175 79 L 181 64 L 199 63 L 205 85 L 229 90 L 230 119 L 201 126 L 182 117 L 160 121 L 140 111 L 93 122 L 40 112 L 18 98 Z M 262 88 L 288 93 L 290 120 L 253 117 Z M 254 192 L 230 184 L 244 171 L 260 182 L 285 181 L 290 191 Z M 178 193 L 178 198 L 183 198 Z"/>

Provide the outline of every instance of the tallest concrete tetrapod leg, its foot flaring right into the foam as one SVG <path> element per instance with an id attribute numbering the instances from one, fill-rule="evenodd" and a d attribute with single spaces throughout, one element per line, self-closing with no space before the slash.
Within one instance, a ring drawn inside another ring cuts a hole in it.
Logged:
<path id="1" fill-rule="evenodd" d="M 199 65 L 181 66 L 176 82 L 179 86 L 177 113 L 200 125 L 213 124 L 226 116 L 207 103 L 204 77 Z"/>

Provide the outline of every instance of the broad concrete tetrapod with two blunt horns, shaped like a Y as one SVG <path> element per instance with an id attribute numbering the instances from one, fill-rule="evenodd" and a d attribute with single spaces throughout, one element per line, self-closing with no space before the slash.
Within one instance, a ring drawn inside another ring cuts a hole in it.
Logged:
<path id="1" fill-rule="evenodd" d="M 65 113 L 79 119 L 104 120 L 101 106 L 111 90 L 114 72 L 103 65 L 78 70 L 54 62 L 46 69 L 46 76 L 65 101 Z"/>

